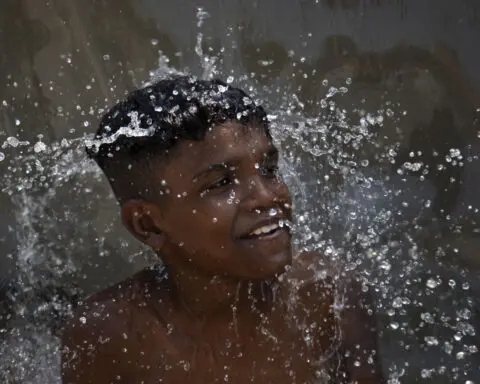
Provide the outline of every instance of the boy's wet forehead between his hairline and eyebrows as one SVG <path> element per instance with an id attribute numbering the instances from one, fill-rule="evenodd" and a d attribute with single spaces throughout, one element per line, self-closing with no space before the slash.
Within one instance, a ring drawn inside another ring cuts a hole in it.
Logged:
<path id="1" fill-rule="evenodd" d="M 263 126 L 225 123 L 214 126 L 201 141 L 181 142 L 167 170 L 195 174 L 212 164 L 255 159 L 274 148 Z"/>

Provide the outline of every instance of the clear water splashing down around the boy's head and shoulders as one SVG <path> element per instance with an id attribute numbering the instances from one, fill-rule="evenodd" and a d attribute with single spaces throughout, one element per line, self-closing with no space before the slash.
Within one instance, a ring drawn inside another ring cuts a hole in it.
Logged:
<path id="1" fill-rule="evenodd" d="M 374 110 L 345 106 L 342 100 L 355 82 L 349 77 L 337 84 L 325 79 L 320 112 L 311 116 L 295 92 L 262 87 L 255 76 L 234 76 L 221 68 L 220 57 L 204 50 L 202 28 L 208 16 L 205 9 L 197 10 L 200 76 L 225 77 L 259 100 L 281 95 L 278 105 L 268 106 L 269 119 L 295 198 L 295 246 L 326 255 L 338 271 L 339 284 L 345 272 L 356 271 L 363 286 L 374 292 L 389 382 L 401 383 L 410 371 L 434 382 L 479 380 L 478 280 L 468 266 L 449 263 L 459 246 L 424 242 L 429 233 L 462 231 L 465 223 L 465 214 L 434 220 L 434 186 L 426 176 L 449 167 L 478 167 L 478 143 L 451 148 L 439 158 L 437 170 L 425 167 L 421 152 L 399 163 L 400 142 L 382 142 L 381 131 L 406 116 L 401 105 L 387 100 Z M 148 82 L 182 72 L 188 69 L 172 68 L 160 54 L 159 68 Z M 10 234 L 20 244 L 15 255 L 7 255 L 15 260 L 16 275 L 6 300 L 9 315 L 0 323 L 5 340 L 0 346 L 2 382 L 59 382 L 58 325 L 69 316 L 76 297 L 96 289 L 79 286 L 85 274 L 104 268 L 102 259 L 109 252 L 123 256 L 125 269 L 132 259 L 151 262 L 148 251 L 118 240 L 118 222 L 91 216 L 102 209 L 117 215 L 103 176 L 84 155 L 83 146 L 91 139 L 86 135 L 48 143 L 39 137 L 32 143 L 8 137 L 1 146 L 0 161 L 8 166 L 0 189 L 15 205 Z M 368 155 L 372 148 L 373 158 Z M 392 164 L 394 174 L 386 171 Z M 477 207 L 467 211 L 478 218 Z M 477 240 L 478 231 L 473 231 Z M 106 243 L 116 244 L 115 249 Z M 92 249 L 94 257 L 86 258 Z M 97 283 L 102 287 L 104 282 Z"/>

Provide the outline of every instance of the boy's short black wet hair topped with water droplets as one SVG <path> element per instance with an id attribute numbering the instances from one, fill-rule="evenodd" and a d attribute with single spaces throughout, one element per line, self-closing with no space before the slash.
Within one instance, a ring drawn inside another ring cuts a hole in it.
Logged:
<path id="1" fill-rule="evenodd" d="M 174 156 L 178 143 L 203 140 L 212 126 L 227 121 L 262 125 L 270 137 L 265 110 L 244 91 L 218 79 L 174 76 L 133 91 L 116 104 L 101 119 L 86 151 L 120 203 L 148 199 L 159 192 L 149 169 Z"/>

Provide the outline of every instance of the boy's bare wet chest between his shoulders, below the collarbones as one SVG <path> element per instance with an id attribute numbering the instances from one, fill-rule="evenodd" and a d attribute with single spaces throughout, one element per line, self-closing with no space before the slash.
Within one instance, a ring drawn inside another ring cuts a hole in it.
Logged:
<path id="1" fill-rule="evenodd" d="M 166 383 L 323 383 L 325 348 L 315 329 L 289 321 L 259 324 L 251 332 L 231 327 L 210 328 L 198 334 L 172 329 L 174 348 L 163 355 L 146 383 L 159 377 Z M 152 351 L 153 352 L 153 351 Z M 323 379 L 322 379 L 323 378 Z"/>

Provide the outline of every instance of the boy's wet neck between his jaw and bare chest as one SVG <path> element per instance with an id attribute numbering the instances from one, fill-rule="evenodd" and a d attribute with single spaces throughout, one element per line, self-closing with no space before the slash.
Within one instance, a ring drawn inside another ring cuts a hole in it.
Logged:
<path id="1" fill-rule="evenodd" d="M 206 320 L 243 310 L 267 310 L 278 280 L 244 280 L 208 275 L 198 270 L 167 266 L 169 285 L 178 303 L 189 314 Z"/>

